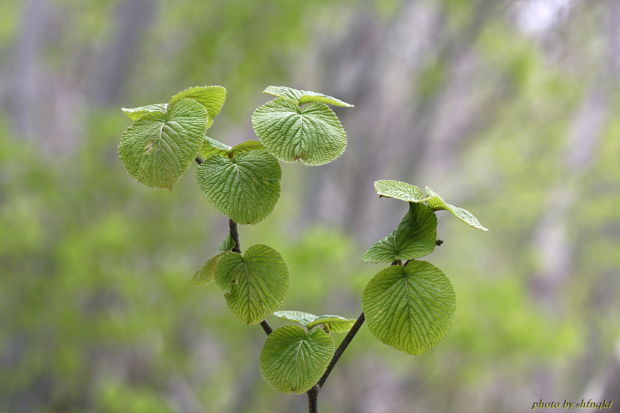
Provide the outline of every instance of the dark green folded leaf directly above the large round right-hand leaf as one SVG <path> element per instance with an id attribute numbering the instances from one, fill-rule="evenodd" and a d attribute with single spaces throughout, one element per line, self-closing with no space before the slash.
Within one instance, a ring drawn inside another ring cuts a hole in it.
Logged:
<path id="1" fill-rule="evenodd" d="M 409 202 L 397 229 L 362 255 L 362 262 L 415 260 L 433 252 L 437 241 L 437 217 L 424 204 Z"/>

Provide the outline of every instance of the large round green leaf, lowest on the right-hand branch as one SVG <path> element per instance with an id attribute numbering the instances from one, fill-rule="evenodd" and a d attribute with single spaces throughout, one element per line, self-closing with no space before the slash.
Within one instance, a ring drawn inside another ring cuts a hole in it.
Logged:
<path id="1" fill-rule="evenodd" d="M 362 308 L 371 333 L 382 343 L 419 356 L 448 333 L 457 308 L 454 288 L 426 261 L 390 266 L 366 284 Z"/>

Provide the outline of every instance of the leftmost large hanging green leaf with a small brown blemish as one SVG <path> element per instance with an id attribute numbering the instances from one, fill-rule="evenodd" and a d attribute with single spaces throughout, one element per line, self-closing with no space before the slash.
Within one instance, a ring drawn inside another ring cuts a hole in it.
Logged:
<path id="1" fill-rule="evenodd" d="M 149 112 L 125 130 L 118 155 L 145 187 L 172 189 L 189 169 L 207 128 L 207 111 L 186 99 L 166 112 Z"/>

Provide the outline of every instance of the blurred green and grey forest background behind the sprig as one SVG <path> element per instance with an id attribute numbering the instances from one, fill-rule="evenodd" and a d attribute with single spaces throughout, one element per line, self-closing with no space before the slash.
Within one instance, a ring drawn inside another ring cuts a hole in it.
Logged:
<path id="1" fill-rule="evenodd" d="M 262 380 L 262 329 L 189 284 L 227 231 L 196 166 L 171 193 L 118 159 L 121 107 L 194 85 L 227 88 L 228 145 L 267 85 L 355 105 L 344 155 L 282 165 L 273 213 L 240 227 L 289 264 L 282 309 L 358 317 L 383 268 L 360 257 L 406 213 L 375 180 L 490 229 L 438 214 L 451 331 L 411 357 L 362 327 L 322 413 L 619 412 L 619 79 L 617 0 L 0 1 L 0 412 L 307 411 Z"/>

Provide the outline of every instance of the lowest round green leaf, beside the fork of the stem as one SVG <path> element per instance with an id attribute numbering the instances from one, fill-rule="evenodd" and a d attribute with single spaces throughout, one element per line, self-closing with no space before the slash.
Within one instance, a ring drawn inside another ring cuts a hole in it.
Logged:
<path id="1" fill-rule="evenodd" d="M 282 326 L 262 346 L 260 372 L 278 392 L 302 394 L 322 377 L 334 351 L 333 339 L 320 328 Z"/>

